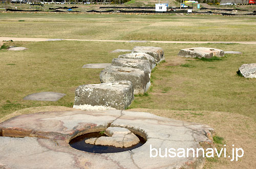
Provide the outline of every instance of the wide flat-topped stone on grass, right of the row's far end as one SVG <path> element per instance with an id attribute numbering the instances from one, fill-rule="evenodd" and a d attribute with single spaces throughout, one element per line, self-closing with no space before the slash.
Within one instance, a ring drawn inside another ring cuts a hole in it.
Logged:
<path id="1" fill-rule="evenodd" d="M 185 58 L 212 58 L 212 57 L 224 57 L 224 51 L 221 49 L 208 48 L 208 47 L 191 47 L 181 49 L 178 53 L 180 57 Z"/>

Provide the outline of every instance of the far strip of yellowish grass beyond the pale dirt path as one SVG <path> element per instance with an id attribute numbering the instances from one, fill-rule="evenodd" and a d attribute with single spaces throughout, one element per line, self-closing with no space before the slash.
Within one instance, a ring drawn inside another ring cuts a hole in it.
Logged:
<path id="1" fill-rule="evenodd" d="M 162 41 L 256 41 L 256 18 L 0 13 L 3 37 Z"/>

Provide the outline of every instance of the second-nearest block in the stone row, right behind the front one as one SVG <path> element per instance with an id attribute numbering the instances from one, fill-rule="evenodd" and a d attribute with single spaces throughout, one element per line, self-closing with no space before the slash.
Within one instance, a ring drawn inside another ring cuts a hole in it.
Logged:
<path id="1" fill-rule="evenodd" d="M 100 72 L 101 82 L 112 82 L 117 80 L 131 81 L 134 88 L 134 94 L 145 93 L 151 84 L 148 73 L 140 69 L 109 66 Z"/>

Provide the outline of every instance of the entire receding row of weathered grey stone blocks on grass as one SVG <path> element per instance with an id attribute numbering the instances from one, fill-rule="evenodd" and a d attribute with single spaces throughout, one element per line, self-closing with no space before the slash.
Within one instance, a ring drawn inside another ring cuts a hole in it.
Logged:
<path id="1" fill-rule="evenodd" d="M 157 63 L 164 60 L 163 49 L 136 46 L 132 53 L 119 55 L 100 73 L 100 84 L 82 85 L 75 92 L 74 108 L 83 110 L 125 109 L 134 94 L 150 88 L 150 76 Z"/>

